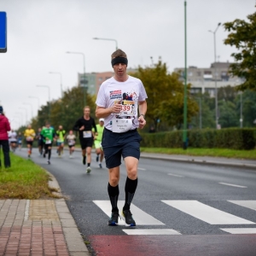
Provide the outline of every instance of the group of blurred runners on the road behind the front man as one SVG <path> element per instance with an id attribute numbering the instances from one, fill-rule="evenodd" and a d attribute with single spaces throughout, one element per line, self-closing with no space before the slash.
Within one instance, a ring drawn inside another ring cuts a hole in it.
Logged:
<path id="1" fill-rule="evenodd" d="M 64 145 L 68 147 L 69 158 L 73 158 L 73 152 L 77 143 L 76 131 L 79 133 L 79 144 L 82 148 L 82 163 L 86 165 L 86 172 L 90 173 L 91 150 L 93 146 L 96 149 L 96 162 L 102 168 L 102 160 L 104 158 L 102 150 L 102 133 L 104 129 L 104 119 L 99 119 L 99 124 L 96 125 L 95 119 L 90 117 L 90 107 L 84 108 L 84 115 L 80 117 L 74 124 L 73 130 L 65 131 L 62 125 L 59 125 L 58 130 L 55 130 L 49 122 L 46 122 L 42 128 L 38 128 L 36 132 L 32 129 L 32 125 L 27 125 L 26 130 L 17 133 L 14 130 L 9 131 L 9 148 L 12 152 L 22 146 L 27 148 L 27 157 L 31 158 L 32 148 L 38 147 L 40 156 L 47 158 L 47 163 L 50 164 L 52 147 L 56 148 L 56 154 L 62 157 Z"/>

